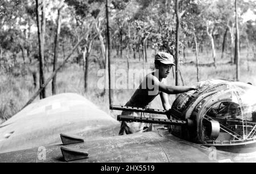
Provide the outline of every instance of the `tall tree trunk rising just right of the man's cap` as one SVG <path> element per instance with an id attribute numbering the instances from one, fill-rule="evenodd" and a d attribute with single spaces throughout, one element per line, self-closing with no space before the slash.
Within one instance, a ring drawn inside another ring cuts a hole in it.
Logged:
<path id="1" fill-rule="evenodd" d="M 178 77 L 178 71 L 179 71 L 179 30 L 180 30 L 180 15 L 179 15 L 179 0 L 176 0 L 175 4 L 175 13 L 176 13 L 176 59 L 175 59 L 175 64 L 176 64 L 176 69 L 175 69 L 175 84 L 176 86 L 179 86 L 179 77 Z"/>

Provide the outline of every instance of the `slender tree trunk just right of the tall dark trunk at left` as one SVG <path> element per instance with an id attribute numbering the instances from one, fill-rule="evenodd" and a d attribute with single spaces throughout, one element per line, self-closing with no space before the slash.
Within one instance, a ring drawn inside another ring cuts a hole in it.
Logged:
<path id="1" fill-rule="evenodd" d="M 59 54 L 59 36 L 60 36 L 60 27 L 61 27 L 61 16 L 60 16 L 60 12 L 61 12 L 62 7 L 60 7 L 58 9 L 58 15 L 57 15 L 57 29 L 56 29 L 56 35 L 55 35 L 55 41 L 54 41 L 54 56 L 53 56 L 53 72 L 56 70 L 57 67 L 57 60 L 58 60 L 58 54 Z M 57 75 L 55 75 L 55 77 L 53 77 L 52 79 L 52 95 L 55 95 L 57 93 L 57 89 L 56 89 L 56 78 Z"/>

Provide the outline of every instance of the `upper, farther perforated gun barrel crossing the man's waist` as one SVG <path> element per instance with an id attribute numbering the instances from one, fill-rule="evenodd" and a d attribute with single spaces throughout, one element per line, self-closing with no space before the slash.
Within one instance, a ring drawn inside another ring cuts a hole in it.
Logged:
<path id="1" fill-rule="evenodd" d="M 168 111 L 161 109 L 149 109 L 149 108 L 139 108 L 139 107 L 127 107 L 110 105 L 110 109 L 119 111 L 131 111 L 131 112 L 145 112 L 145 113 L 156 113 L 156 114 L 167 114 Z"/>

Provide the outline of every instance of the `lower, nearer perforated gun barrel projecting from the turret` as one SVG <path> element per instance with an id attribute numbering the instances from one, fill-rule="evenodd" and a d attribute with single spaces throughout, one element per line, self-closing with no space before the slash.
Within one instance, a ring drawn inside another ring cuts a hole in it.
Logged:
<path id="1" fill-rule="evenodd" d="M 131 122 L 146 122 L 152 124 L 164 124 L 164 125 L 187 125 L 187 121 L 180 120 L 165 120 L 160 118 L 146 118 L 146 117 L 131 117 L 131 116 L 117 116 L 118 121 L 131 121 Z"/>

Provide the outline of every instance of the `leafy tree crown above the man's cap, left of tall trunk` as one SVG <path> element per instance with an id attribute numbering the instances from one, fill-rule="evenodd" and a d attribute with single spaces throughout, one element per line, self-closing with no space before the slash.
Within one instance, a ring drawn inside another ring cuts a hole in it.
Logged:
<path id="1" fill-rule="evenodd" d="M 143 6 L 137 12 L 137 18 L 147 22 L 152 44 L 159 50 L 175 54 L 175 2 L 142 1 Z M 150 11 L 150 14 L 148 14 Z"/>

